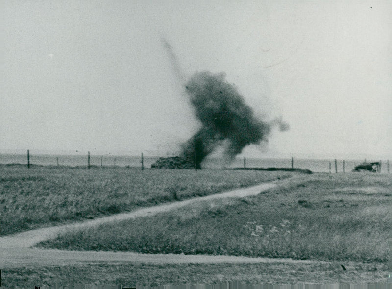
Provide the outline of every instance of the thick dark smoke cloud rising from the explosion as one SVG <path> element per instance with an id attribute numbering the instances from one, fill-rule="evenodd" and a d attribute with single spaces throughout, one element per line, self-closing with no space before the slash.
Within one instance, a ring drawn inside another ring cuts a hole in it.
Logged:
<path id="1" fill-rule="evenodd" d="M 246 145 L 267 141 L 271 125 L 259 120 L 225 74 L 197 72 L 185 84 L 201 128 L 184 144 L 183 155 L 200 168 L 203 159 L 223 141 L 225 155 L 233 159 Z"/>

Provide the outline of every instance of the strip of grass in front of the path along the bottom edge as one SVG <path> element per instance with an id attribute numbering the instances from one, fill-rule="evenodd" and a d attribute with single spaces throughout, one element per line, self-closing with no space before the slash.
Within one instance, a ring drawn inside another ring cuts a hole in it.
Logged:
<path id="1" fill-rule="evenodd" d="M 164 284 L 217 284 L 239 281 L 245 284 L 364 284 L 385 283 L 388 268 L 383 264 L 339 262 L 293 264 L 131 264 L 81 263 L 53 267 L 25 267 L 3 270 L 5 288 L 31 288 L 68 284 L 123 284 L 124 287 Z"/>

